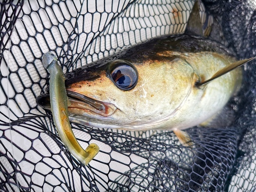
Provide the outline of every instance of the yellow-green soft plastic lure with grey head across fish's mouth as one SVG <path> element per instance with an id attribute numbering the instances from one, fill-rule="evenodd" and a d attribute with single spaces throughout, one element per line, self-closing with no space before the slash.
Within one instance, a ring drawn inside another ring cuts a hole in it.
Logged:
<path id="1" fill-rule="evenodd" d="M 92 143 L 85 150 L 80 146 L 69 122 L 68 103 L 70 102 L 65 89 L 64 73 L 57 62 L 56 56 L 51 52 L 43 55 L 42 63 L 50 73 L 49 93 L 51 111 L 58 134 L 70 153 L 84 165 L 88 165 L 95 155 L 98 154 L 99 146 Z"/>

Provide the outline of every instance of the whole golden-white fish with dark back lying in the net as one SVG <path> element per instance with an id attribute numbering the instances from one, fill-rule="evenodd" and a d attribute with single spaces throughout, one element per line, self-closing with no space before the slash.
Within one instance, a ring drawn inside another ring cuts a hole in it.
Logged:
<path id="1" fill-rule="evenodd" d="M 237 67 L 252 59 L 237 61 L 218 42 L 190 34 L 154 39 L 67 73 L 69 119 L 97 128 L 173 130 L 186 145 L 183 129 L 216 118 L 241 87 Z M 49 108 L 48 93 L 37 103 Z"/>

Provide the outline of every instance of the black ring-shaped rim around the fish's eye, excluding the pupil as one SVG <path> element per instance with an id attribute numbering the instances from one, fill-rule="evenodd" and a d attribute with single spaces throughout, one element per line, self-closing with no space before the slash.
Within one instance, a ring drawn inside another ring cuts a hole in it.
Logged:
<path id="1" fill-rule="evenodd" d="M 118 67 L 122 64 L 119 64 L 119 63 L 123 63 L 123 64 L 127 64 L 128 66 L 132 67 L 132 69 L 134 70 L 135 74 L 136 74 L 136 81 L 135 83 L 129 87 L 129 88 L 123 88 L 121 86 L 118 86 L 117 83 L 113 80 L 112 78 L 112 75 L 111 75 L 111 71 L 113 71 L 113 67 Z M 134 64 L 130 63 L 129 61 L 127 60 L 122 60 L 122 59 L 117 59 L 113 62 L 111 62 L 107 68 L 107 76 L 110 78 L 110 80 L 114 83 L 114 85 L 116 85 L 116 87 L 118 87 L 120 90 L 123 90 L 123 91 L 129 91 L 131 89 L 133 89 L 136 85 L 137 85 L 137 82 L 138 82 L 138 71 L 136 69 L 136 67 L 134 66 Z"/>

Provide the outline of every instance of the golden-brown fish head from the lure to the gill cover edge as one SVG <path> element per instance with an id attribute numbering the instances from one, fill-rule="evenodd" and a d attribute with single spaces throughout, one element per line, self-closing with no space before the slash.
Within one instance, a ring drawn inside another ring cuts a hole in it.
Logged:
<path id="1" fill-rule="evenodd" d="M 142 130 L 157 128 L 175 115 L 199 81 L 192 66 L 177 55 L 134 58 L 116 59 L 67 77 L 73 121 Z"/>

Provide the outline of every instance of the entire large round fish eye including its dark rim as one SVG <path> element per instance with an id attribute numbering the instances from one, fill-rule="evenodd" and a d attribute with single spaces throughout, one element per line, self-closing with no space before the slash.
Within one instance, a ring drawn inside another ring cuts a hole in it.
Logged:
<path id="1" fill-rule="evenodd" d="M 121 90 L 131 90 L 138 80 L 138 72 L 133 64 L 124 60 L 116 60 L 109 67 L 110 79 Z"/>

